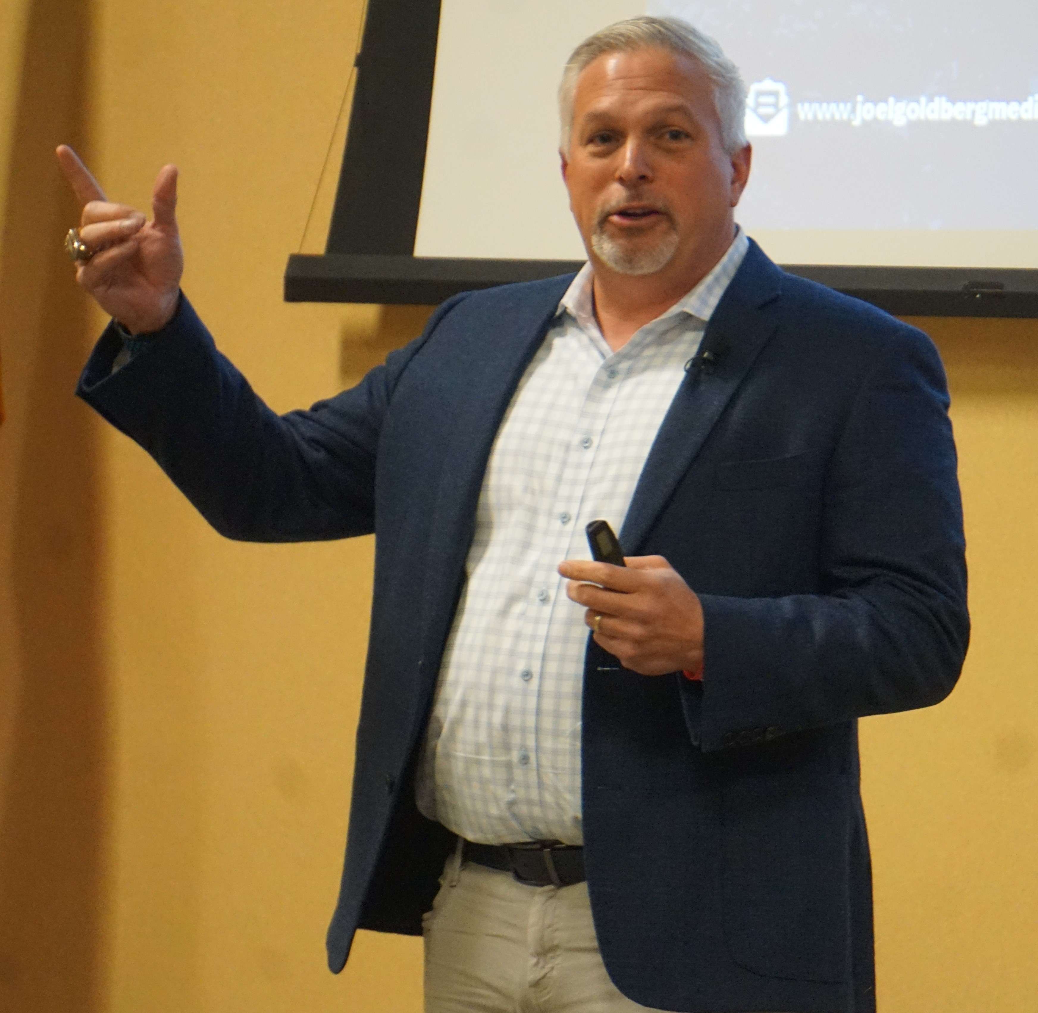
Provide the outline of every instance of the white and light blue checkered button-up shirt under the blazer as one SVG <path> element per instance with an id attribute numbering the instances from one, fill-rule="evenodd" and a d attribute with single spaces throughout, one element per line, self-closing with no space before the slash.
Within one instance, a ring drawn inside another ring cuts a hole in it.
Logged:
<path id="1" fill-rule="evenodd" d="M 589 631 L 556 567 L 591 557 L 584 525 L 624 523 L 685 363 L 746 254 L 713 270 L 619 351 L 573 279 L 497 431 L 466 583 L 417 770 L 418 809 L 483 844 L 582 844 L 580 697 Z"/>

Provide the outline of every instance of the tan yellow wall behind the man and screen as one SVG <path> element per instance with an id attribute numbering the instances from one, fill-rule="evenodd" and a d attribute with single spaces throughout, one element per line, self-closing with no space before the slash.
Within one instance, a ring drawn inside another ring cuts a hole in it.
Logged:
<path id="1" fill-rule="evenodd" d="M 280 291 L 361 4 L 0 12 L 0 1009 L 418 1010 L 414 939 L 362 933 L 340 978 L 324 968 L 372 543 L 225 542 L 72 398 L 102 321 L 59 249 L 76 210 L 52 161 L 79 144 L 140 206 L 175 162 L 185 288 L 221 348 L 278 410 L 354 383 L 428 309 Z M 327 200 L 307 249 L 326 221 Z M 975 636 L 950 701 L 863 724 L 880 997 L 886 1013 L 1023 1013 L 1038 324 L 922 323 L 955 399 Z"/>

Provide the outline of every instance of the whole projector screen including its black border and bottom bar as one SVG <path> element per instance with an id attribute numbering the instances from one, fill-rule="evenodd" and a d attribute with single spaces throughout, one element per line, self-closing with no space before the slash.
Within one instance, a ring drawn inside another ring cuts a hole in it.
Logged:
<path id="1" fill-rule="evenodd" d="M 323 255 L 291 301 L 436 303 L 576 270 L 556 88 L 641 13 L 749 89 L 737 220 L 788 270 L 901 316 L 1038 317 L 1038 4 L 367 0 Z"/>

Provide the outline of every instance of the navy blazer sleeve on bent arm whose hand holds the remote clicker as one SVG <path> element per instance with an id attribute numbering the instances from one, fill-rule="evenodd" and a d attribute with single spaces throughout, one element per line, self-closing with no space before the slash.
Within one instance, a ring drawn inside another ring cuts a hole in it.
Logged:
<path id="1" fill-rule="evenodd" d="M 822 593 L 702 596 L 705 750 L 951 692 L 969 621 L 948 404 L 929 338 L 899 328 L 857 389 L 828 464 Z"/>

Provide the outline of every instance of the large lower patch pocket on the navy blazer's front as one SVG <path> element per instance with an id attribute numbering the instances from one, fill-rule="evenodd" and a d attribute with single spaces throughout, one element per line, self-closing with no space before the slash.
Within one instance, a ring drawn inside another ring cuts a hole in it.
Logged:
<path id="1" fill-rule="evenodd" d="M 732 959 L 758 975 L 840 982 L 850 970 L 850 783 L 769 773 L 723 789 L 721 886 Z"/>

